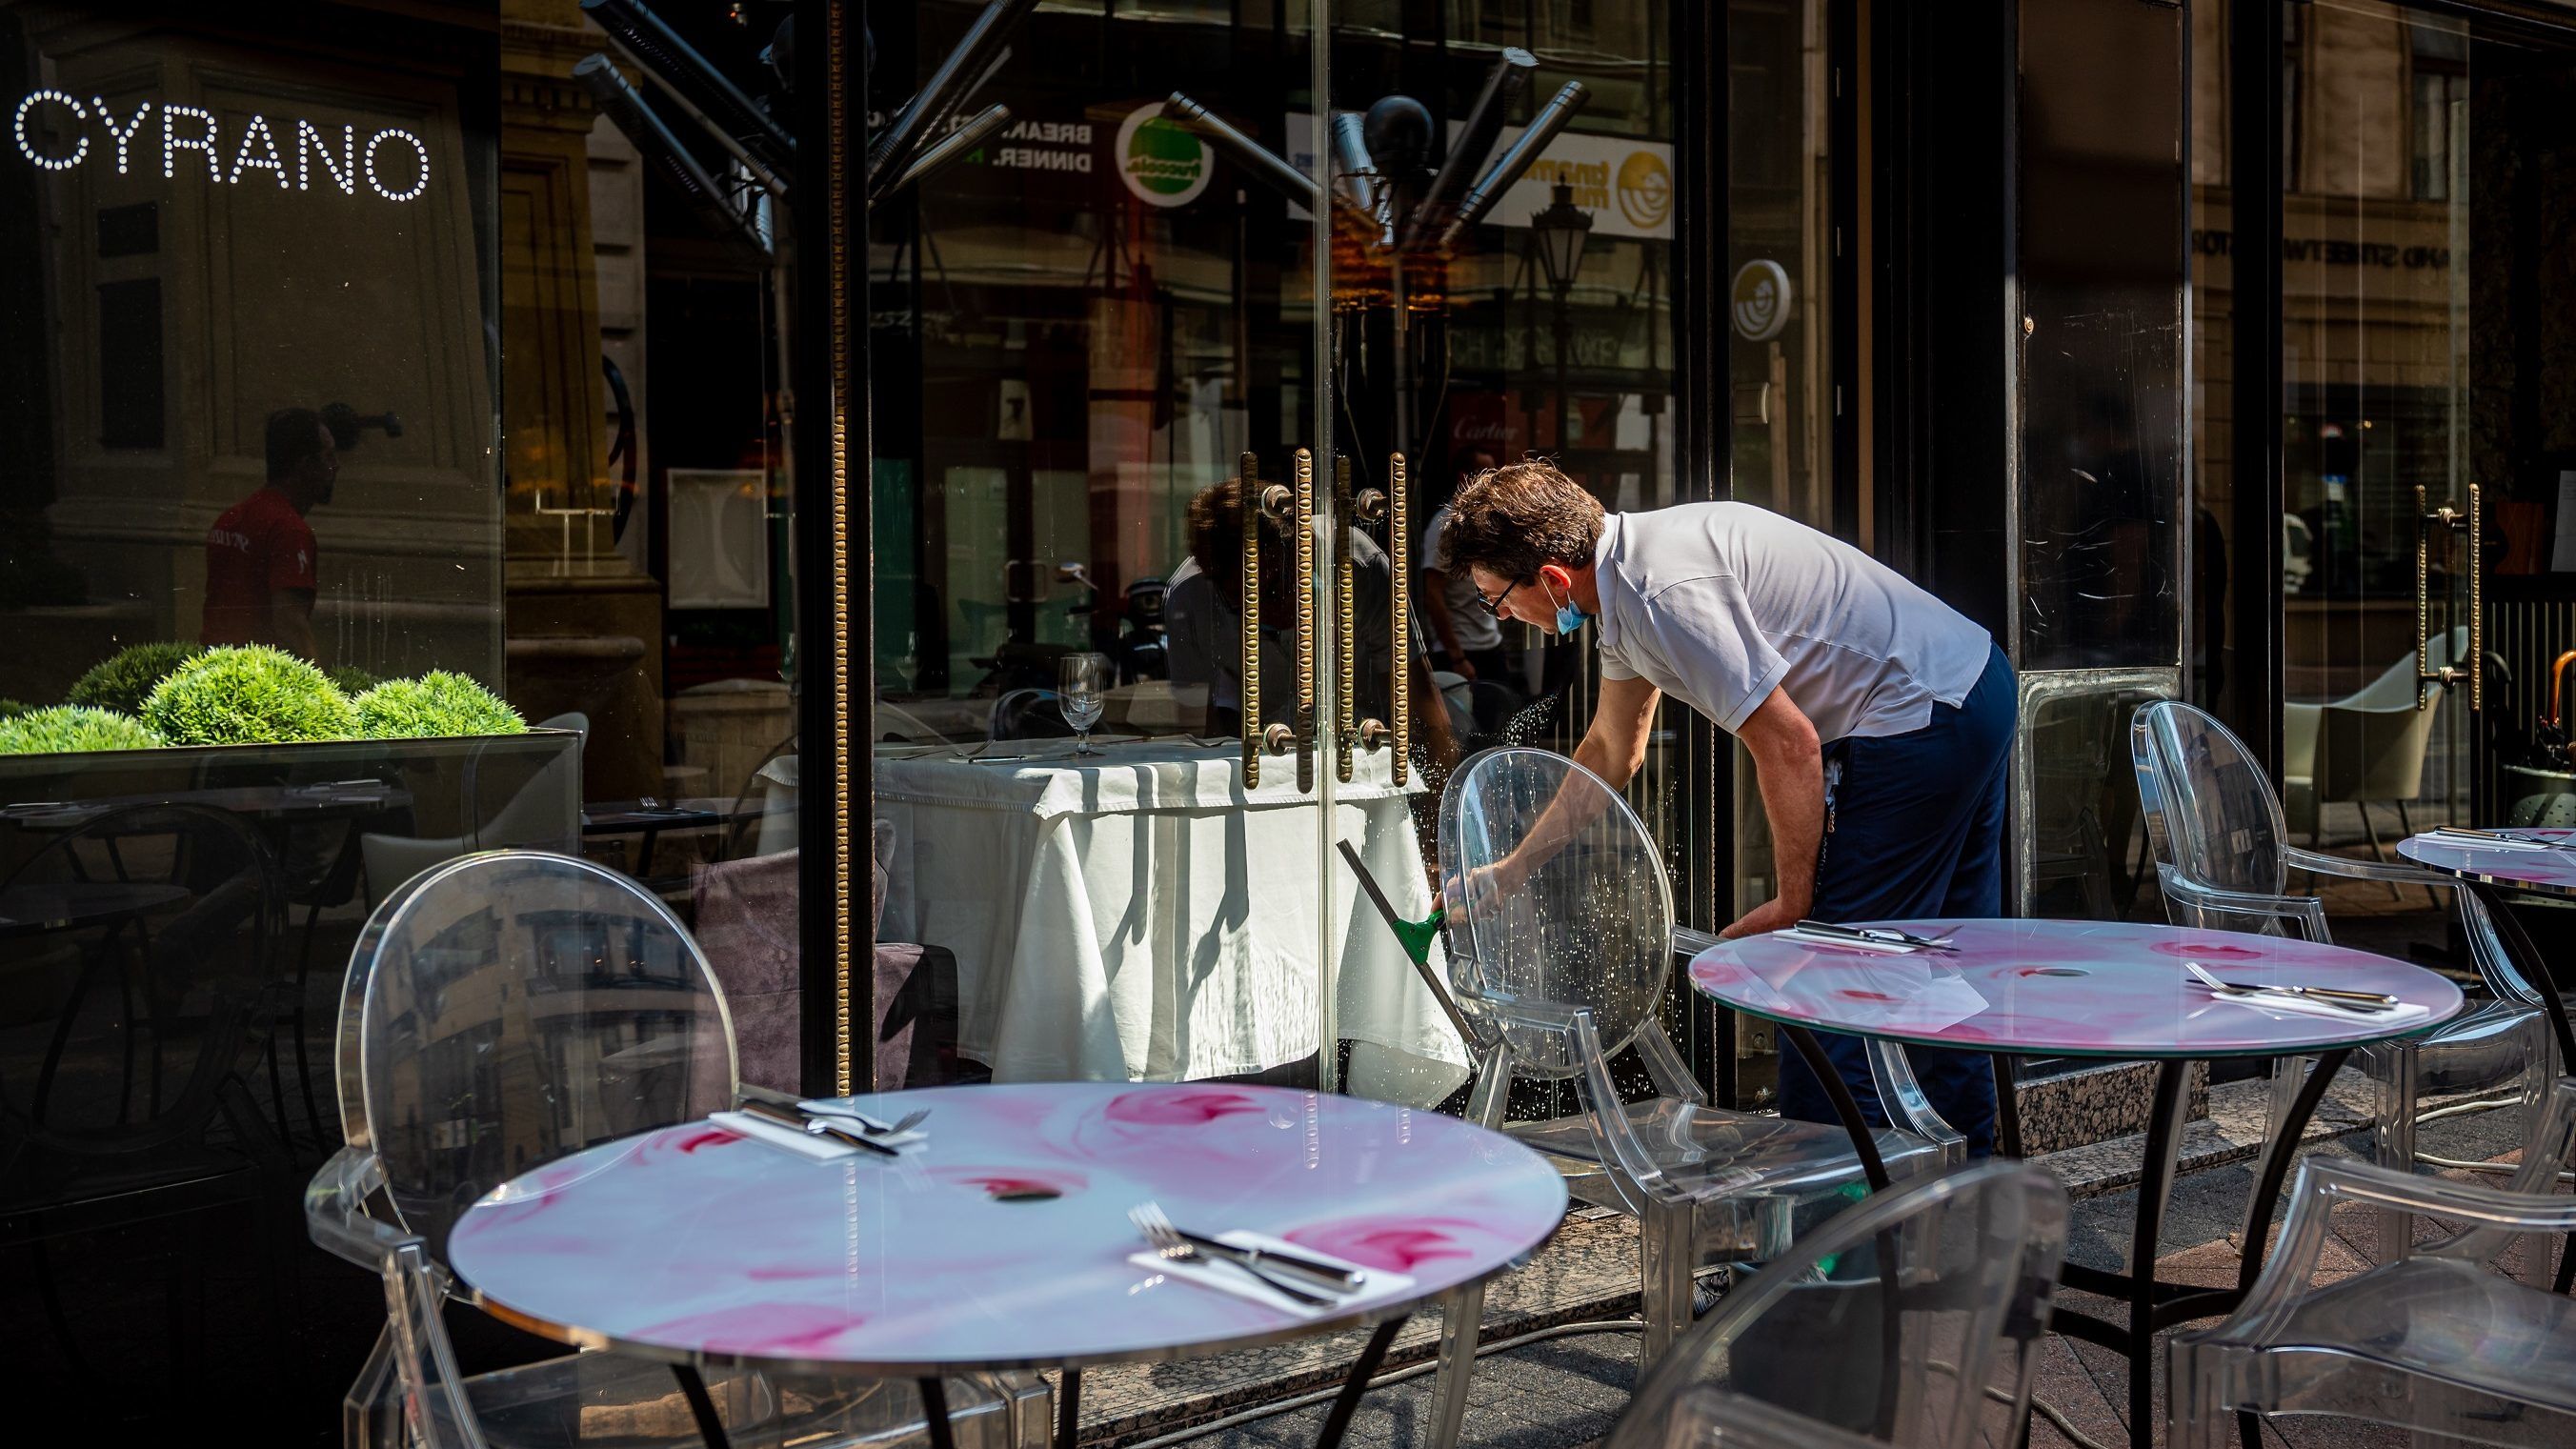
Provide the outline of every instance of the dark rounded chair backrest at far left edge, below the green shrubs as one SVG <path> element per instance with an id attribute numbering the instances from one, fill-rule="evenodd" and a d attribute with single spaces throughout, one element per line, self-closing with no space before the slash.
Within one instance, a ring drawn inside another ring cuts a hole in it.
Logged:
<path id="1" fill-rule="evenodd" d="M 111 810 L 13 869 L 0 1176 L 204 1134 L 265 1042 L 283 910 L 260 838 L 201 804 Z"/>

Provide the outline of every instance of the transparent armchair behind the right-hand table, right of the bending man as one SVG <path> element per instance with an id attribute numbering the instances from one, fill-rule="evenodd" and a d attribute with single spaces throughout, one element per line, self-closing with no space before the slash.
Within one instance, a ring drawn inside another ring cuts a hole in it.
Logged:
<path id="1" fill-rule="evenodd" d="M 2138 766 L 2138 802 L 2146 838 L 2156 851 L 2156 877 L 2174 926 L 2208 931 L 2298 933 L 2326 941 L 2326 902 L 2290 895 L 2290 871 L 2378 879 L 2450 890 L 2460 910 L 2478 977 L 2494 1000 L 2478 1000 L 2442 1026 L 2360 1052 L 2375 1083 L 2372 1158 L 2391 1168 L 2416 1160 L 2416 1101 L 2421 1093 L 2519 1088 L 2524 1111 L 2540 1104 L 2555 1075 L 2550 1018 L 2540 990 L 2504 951 L 2494 920 L 2476 892 L 2439 871 L 2411 864 L 2352 861 L 2290 846 L 2272 779 L 2226 724 L 2190 704 L 2159 699 L 2130 722 Z M 2275 1075 L 2272 1122 L 2298 1093 L 2306 1060 L 2282 1062 Z M 2254 1225 L 2259 1235 L 2264 1225 Z M 2383 1222 L 2388 1245 L 2403 1245 L 2414 1227 L 2398 1214 Z"/>

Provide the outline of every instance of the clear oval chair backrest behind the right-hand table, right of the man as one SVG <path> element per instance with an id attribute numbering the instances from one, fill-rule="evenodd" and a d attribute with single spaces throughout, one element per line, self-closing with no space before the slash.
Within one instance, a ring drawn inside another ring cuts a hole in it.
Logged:
<path id="1" fill-rule="evenodd" d="M 2280 797 L 2226 724 L 2172 699 L 2141 704 L 2130 758 L 2159 866 L 2200 887 L 2282 892 L 2290 877 Z"/>

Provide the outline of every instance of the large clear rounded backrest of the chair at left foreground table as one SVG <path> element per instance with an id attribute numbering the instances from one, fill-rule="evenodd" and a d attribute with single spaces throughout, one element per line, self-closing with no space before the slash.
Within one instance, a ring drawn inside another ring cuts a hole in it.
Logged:
<path id="1" fill-rule="evenodd" d="M 420 871 L 340 995 L 340 1119 L 430 1253 L 482 1194 L 608 1137 L 734 1104 L 734 1024 L 670 910 L 574 856 Z"/>

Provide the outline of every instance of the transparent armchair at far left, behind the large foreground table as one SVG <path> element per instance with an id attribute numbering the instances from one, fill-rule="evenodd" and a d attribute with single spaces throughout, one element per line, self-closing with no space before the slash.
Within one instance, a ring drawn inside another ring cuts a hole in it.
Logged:
<path id="1" fill-rule="evenodd" d="M 384 1279 L 386 1330 L 345 1400 L 345 1444 L 479 1449 L 698 1444 L 670 1366 L 608 1351 L 461 1374 L 440 1305 L 456 1220 L 592 1142 L 768 1096 L 737 1080 L 724 993 L 631 879 L 538 851 L 430 866 L 368 918 L 340 1000 L 348 1145 L 304 1194 L 314 1243 Z M 711 1372 L 726 1436 L 927 1444 L 912 1385 Z M 1046 1441 L 1030 1374 L 948 1382 L 961 1449 Z"/>

